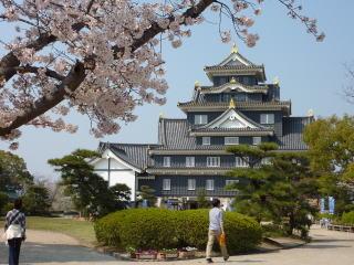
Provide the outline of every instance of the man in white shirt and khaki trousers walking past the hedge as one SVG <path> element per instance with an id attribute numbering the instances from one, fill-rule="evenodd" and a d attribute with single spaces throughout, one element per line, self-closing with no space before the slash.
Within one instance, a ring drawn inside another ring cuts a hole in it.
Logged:
<path id="1" fill-rule="evenodd" d="M 211 250 L 214 241 L 217 239 L 220 243 L 220 236 L 225 239 L 223 230 L 223 211 L 221 210 L 221 203 L 219 199 L 212 200 L 212 209 L 209 211 L 209 232 L 208 232 L 208 244 L 207 244 L 207 262 L 212 263 Z M 225 242 L 220 244 L 221 254 L 223 261 L 229 259 L 229 254 L 226 248 Z"/>

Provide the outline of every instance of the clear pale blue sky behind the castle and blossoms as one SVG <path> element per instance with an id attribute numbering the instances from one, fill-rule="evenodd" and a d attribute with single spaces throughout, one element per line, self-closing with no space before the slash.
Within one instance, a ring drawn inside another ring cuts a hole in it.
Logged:
<path id="1" fill-rule="evenodd" d="M 242 55 L 253 63 L 266 65 L 268 82 L 280 80 L 281 98 L 292 100 L 293 116 L 304 116 L 312 108 L 316 116 L 353 115 L 353 105 L 345 102 L 342 91 L 347 84 L 343 64 L 354 62 L 354 1 L 352 0 L 302 0 L 304 12 L 319 21 L 326 34 L 322 43 L 315 42 L 304 26 L 287 17 L 287 11 L 277 0 L 266 0 L 262 15 L 257 18 L 253 32 L 260 34 L 256 47 L 249 49 L 235 39 Z M 214 21 L 217 21 L 216 17 Z M 1 35 L 11 34 L 0 28 Z M 195 81 L 209 84 L 202 68 L 222 61 L 230 44 L 222 44 L 218 28 L 204 23 L 192 29 L 191 38 L 180 49 L 164 43 L 169 84 L 165 106 L 145 105 L 136 109 L 138 119 L 122 126 L 118 135 L 101 140 L 111 142 L 156 142 L 157 120 L 165 117 L 180 118 L 184 113 L 177 102 L 189 100 Z M 1 54 L 1 51 L 0 51 Z M 46 165 L 50 158 L 61 157 L 76 148 L 95 149 L 100 139 L 88 134 L 86 117 L 71 115 L 71 121 L 80 126 L 74 134 L 53 132 L 49 129 L 23 129 L 20 148 L 15 153 L 23 157 L 29 170 L 39 177 L 53 178 L 55 173 Z M 0 148 L 7 145 L 0 142 Z"/>

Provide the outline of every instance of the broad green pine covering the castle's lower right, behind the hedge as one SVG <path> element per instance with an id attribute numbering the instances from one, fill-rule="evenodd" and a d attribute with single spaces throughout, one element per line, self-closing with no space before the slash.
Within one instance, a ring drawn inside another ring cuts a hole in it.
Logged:
<path id="1" fill-rule="evenodd" d="M 236 210 L 259 222 L 273 221 L 288 234 L 296 229 L 306 235 L 308 215 L 316 211 L 310 200 L 317 199 L 317 182 L 306 155 L 275 152 L 274 144 L 232 146 L 227 150 L 249 161 L 248 168 L 235 168 L 228 173 L 241 180 L 233 187 L 239 190 Z"/>

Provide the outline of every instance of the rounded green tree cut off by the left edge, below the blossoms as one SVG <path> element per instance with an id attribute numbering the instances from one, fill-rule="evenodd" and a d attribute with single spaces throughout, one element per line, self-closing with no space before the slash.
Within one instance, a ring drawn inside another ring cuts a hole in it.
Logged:
<path id="1" fill-rule="evenodd" d="M 0 191 L 22 190 L 33 183 L 33 177 L 22 158 L 0 150 Z"/>

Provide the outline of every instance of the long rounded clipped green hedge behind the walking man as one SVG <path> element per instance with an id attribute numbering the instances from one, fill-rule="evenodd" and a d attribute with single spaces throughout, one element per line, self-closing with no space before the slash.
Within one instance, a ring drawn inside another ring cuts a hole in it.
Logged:
<path id="1" fill-rule="evenodd" d="M 97 220 L 95 232 L 98 242 L 122 248 L 195 246 L 205 250 L 208 225 L 208 210 L 133 209 Z M 252 250 L 262 235 L 260 225 L 253 219 L 233 212 L 226 213 L 225 230 L 230 253 Z"/>

